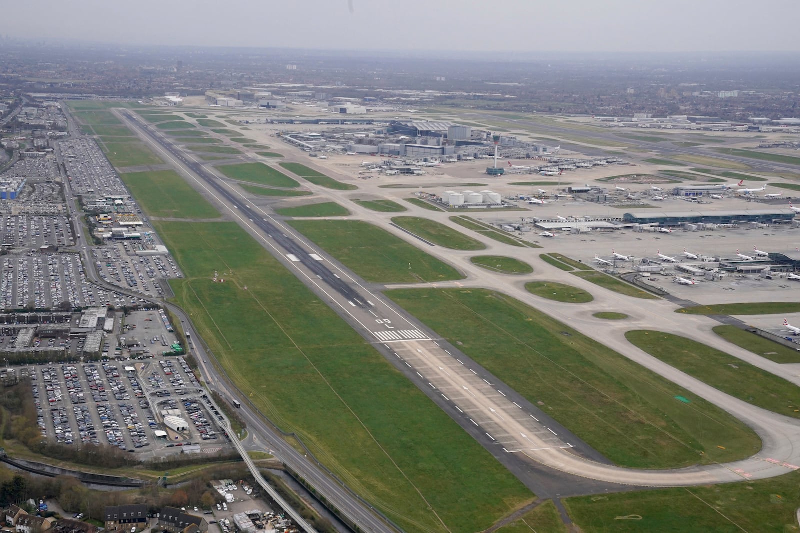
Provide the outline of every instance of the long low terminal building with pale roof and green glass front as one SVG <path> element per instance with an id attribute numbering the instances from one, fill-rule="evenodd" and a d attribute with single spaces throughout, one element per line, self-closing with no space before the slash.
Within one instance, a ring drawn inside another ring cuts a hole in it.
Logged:
<path id="1" fill-rule="evenodd" d="M 742 209 L 731 211 L 674 211 L 671 213 L 634 211 L 625 213 L 622 220 L 635 224 L 684 225 L 687 222 L 705 224 L 733 224 L 735 222 L 758 222 L 772 224 L 774 221 L 790 222 L 797 213 L 791 209 Z"/>

